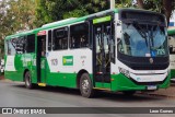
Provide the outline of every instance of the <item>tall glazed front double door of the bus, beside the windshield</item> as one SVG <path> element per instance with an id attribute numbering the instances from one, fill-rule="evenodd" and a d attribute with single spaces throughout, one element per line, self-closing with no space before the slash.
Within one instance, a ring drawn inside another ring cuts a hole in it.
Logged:
<path id="1" fill-rule="evenodd" d="M 93 78 L 96 87 L 110 89 L 112 23 L 93 24 Z"/>

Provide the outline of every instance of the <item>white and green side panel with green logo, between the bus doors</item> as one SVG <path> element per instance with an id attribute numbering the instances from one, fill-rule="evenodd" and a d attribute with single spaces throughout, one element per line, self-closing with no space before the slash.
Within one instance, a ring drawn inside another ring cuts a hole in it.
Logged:
<path id="1" fill-rule="evenodd" d="M 77 87 L 80 70 L 92 74 L 92 51 L 83 48 L 48 52 L 47 69 L 48 85 Z"/>

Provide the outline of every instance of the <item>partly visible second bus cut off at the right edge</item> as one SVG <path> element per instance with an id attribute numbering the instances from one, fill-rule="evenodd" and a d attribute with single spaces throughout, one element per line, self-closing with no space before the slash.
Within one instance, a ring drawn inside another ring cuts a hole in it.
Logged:
<path id="1" fill-rule="evenodd" d="M 175 82 L 175 27 L 168 27 L 171 81 Z"/>

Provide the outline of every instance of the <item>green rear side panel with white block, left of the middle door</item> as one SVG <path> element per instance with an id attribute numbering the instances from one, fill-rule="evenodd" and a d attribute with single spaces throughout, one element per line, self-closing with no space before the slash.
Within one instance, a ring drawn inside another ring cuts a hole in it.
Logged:
<path id="1" fill-rule="evenodd" d="M 13 81 L 24 81 L 24 71 L 28 70 L 32 74 L 32 82 L 36 83 L 36 59 L 35 54 L 23 54 L 5 56 L 5 79 Z"/>

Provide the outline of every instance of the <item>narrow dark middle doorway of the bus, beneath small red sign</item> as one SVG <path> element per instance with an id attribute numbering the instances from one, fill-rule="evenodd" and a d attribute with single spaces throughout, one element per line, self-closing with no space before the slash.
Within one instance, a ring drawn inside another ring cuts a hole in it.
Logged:
<path id="1" fill-rule="evenodd" d="M 37 82 L 46 83 L 46 35 L 37 37 Z"/>

